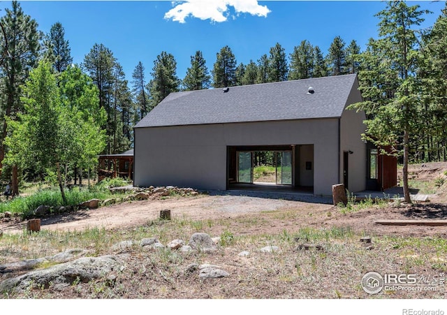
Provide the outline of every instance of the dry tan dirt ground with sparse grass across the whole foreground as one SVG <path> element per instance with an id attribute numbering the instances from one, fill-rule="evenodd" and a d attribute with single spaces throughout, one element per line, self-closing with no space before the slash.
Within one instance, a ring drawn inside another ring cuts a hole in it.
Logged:
<path id="1" fill-rule="evenodd" d="M 412 166 L 411 179 L 423 182 L 420 190 L 425 193 L 434 189 L 434 180 L 447 178 L 446 170 L 447 163 Z M 166 199 L 153 197 L 45 218 L 42 230 L 80 231 L 101 227 L 107 232 L 102 238 L 98 237 L 98 242 L 88 237 L 81 240 L 77 233 L 68 233 L 71 235 L 66 237 L 42 233 L 41 238 L 17 237 L 22 242 L 15 244 L 14 237 L 3 235 L 3 239 L 10 242 L 0 249 L 0 254 L 5 255 L 3 263 L 20 261 L 23 258 L 19 257 L 24 256 L 50 256 L 79 246 L 96 251 L 97 255 L 123 254 L 109 245 L 101 247 L 101 242 L 108 242 L 110 235 L 120 240 L 139 240 L 135 237 L 143 233 L 145 237 L 159 237 L 165 244 L 175 238 L 188 240 L 187 237 L 196 231 L 212 237 L 230 235 L 230 239 L 229 243 L 221 243 L 216 254 L 145 251 L 133 247 L 129 249 L 130 256 L 123 263 L 122 271 L 112 274 L 116 279 L 111 287 L 108 281 L 97 279 L 66 288 L 34 288 L 8 298 L 442 299 L 446 295 L 441 288 L 436 292 L 382 291 L 369 295 L 360 286 L 365 272 L 372 270 L 381 274 L 414 273 L 420 279 L 440 274 L 444 277 L 447 226 L 381 226 L 375 223 L 378 219 L 446 219 L 447 180 L 434 190 L 437 193 L 430 196 L 428 203 L 382 203 L 352 212 L 327 204 L 200 194 Z M 158 221 L 159 212 L 167 209 L 171 210 L 172 221 Z M 0 229 L 5 234 L 22 233 L 25 224 L 1 223 Z M 346 230 L 353 233 L 344 232 Z M 328 237 L 318 236 L 318 233 Z M 372 237 L 372 247 L 359 242 L 362 235 Z M 323 251 L 300 249 L 298 244 L 307 242 L 307 237 L 309 242 L 322 244 Z M 279 252 L 260 252 L 261 247 L 270 244 L 279 245 Z M 242 251 L 249 251 L 249 256 L 240 256 Z M 197 274 L 184 271 L 193 263 L 219 265 L 230 276 L 210 281 L 199 279 Z M 6 274 L 3 278 L 13 275 Z"/>

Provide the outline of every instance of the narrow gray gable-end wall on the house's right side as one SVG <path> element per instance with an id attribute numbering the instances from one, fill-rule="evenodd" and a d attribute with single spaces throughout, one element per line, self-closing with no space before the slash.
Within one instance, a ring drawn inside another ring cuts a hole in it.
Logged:
<path id="1" fill-rule="evenodd" d="M 347 104 L 360 101 L 362 97 L 355 86 Z M 353 154 L 349 154 L 349 187 L 346 187 L 351 192 L 363 191 L 366 188 L 367 152 L 366 144 L 361 138 L 361 134 L 365 132 L 365 124 L 363 124 L 365 119 L 365 112 L 345 109 L 340 120 L 340 179 L 343 181 L 343 152 L 351 150 Z"/>

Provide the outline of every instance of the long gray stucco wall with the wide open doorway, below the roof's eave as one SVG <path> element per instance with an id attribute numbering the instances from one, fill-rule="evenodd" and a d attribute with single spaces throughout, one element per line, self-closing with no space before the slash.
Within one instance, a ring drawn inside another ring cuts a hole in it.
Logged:
<path id="1" fill-rule="evenodd" d="M 314 194 L 339 180 L 338 119 L 135 129 L 135 186 L 226 189 L 226 147 L 314 145 Z"/>

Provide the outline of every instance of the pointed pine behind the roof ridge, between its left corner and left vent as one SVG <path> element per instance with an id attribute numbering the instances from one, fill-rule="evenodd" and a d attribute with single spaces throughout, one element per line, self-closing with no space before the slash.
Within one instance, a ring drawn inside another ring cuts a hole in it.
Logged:
<path id="1" fill-rule="evenodd" d="M 208 74 L 206 61 L 200 50 L 196 51 L 194 56 L 191 56 L 191 68 L 186 70 L 186 75 L 183 79 L 183 86 L 186 91 L 196 91 L 199 89 L 210 88 L 211 76 Z"/>

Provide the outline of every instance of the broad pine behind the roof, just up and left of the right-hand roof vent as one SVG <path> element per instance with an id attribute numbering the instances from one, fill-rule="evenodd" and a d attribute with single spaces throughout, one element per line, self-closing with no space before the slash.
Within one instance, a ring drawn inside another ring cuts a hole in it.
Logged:
<path id="1" fill-rule="evenodd" d="M 309 41 L 302 41 L 293 47 L 288 80 L 307 79 L 314 76 L 314 47 Z"/>

